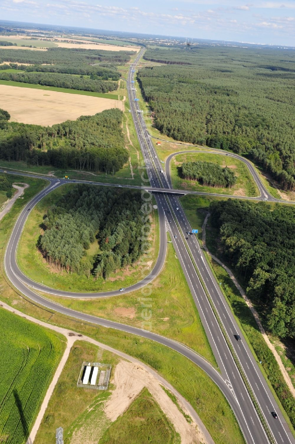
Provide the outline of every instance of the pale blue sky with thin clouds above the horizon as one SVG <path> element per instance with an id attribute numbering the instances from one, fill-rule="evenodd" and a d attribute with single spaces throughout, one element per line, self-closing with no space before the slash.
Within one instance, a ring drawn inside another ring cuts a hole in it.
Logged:
<path id="1" fill-rule="evenodd" d="M 295 0 L 0 0 L 0 17 L 295 46 Z"/>

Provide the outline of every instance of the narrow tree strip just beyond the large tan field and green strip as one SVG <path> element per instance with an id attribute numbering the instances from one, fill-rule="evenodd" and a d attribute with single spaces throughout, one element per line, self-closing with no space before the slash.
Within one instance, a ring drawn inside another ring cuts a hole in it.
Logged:
<path id="1" fill-rule="evenodd" d="M 14 82 L 33 83 L 34 85 L 45 85 L 81 91 L 109 92 L 118 89 L 118 82 L 110 80 L 93 80 L 83 75 L 43 73 L 43 72 L 0 72 L 1 80 L 12 80 Z"/>

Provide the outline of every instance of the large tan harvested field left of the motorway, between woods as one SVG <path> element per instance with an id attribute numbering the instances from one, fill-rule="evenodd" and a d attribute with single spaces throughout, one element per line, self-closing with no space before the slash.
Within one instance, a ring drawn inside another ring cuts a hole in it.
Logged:
<path id="1" fill-rule="evenodd" d="M 0 85 L 0 108 L 7 110 L 14 122 L 51 126 L 110 108 L 123 111 L 123 106 L 120 100 Z"/>

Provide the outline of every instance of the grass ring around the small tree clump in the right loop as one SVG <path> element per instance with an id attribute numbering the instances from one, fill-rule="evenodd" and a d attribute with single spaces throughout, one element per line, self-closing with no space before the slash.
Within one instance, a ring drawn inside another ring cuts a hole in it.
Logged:
<path id="1" fill-rule="evenodd" d="M 212 162 L 222 167 L 228 166 L 236 175 L 236 183 L 231 188 L 218 188 L 201 185 L 194 180 L 186 180 L 181 177 L 181 165 L 183 162 Z M 170 163 L 171 180 L 173 188 L 182 190 L 205 191 L 207 193 L 234 194 L 236 196 L 258 196 L 259 191 L 250 174 L 248 167 L 238 159 L 230 156 L 210 153 L 179 154 Z"/>

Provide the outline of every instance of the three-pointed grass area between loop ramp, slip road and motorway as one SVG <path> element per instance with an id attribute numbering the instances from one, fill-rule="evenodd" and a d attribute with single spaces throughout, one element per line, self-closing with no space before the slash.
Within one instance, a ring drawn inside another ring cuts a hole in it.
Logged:
<path id="1" fill-rule="evenodd" d="M 150 295 L 146 297 L 148 290 Z M 122 296 L 83 300 L 44 294 L 47 299 L 65 307 L 179 341 L 217 368 L 197 307 L 170 243 L 164 268 L 143 291 L 139 289 Z"/>

